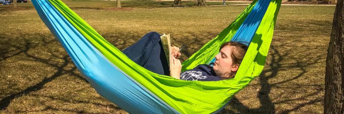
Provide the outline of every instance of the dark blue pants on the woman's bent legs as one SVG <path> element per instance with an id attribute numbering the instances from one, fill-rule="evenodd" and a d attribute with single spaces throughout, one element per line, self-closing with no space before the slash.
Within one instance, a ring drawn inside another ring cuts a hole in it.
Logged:
<path id="1" fill-rule="evenodd" d="M 137 43 L 122 52 L 137 64 L 157 74 L 169 75 L 169 67 L 162 48 L 160 34 L 147 33 Z"/>

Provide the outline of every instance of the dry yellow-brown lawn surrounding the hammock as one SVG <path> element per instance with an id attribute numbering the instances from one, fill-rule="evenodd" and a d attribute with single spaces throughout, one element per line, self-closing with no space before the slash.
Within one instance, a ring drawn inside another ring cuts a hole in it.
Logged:
<path id="1" fill-rule="evenodd" d="M 124 7 L 123 1 L 124 10 L 117 10 L 111 9 L 113 3 L 66 1 L 117 48 L 150 31 L 169 33 L 173 45 L 188 45 L 184 60 L 245 8 L 170 9 L 160 6 L 165 2 L 144 1 L 128 1 Z M 125 113 L 82 77 L 32 5 L 18 6 L 19 10 L 0 6 L 0 113 Z M 262 75 L 220 113 L 322 113 L 334 9 L 281 6 Z"/>

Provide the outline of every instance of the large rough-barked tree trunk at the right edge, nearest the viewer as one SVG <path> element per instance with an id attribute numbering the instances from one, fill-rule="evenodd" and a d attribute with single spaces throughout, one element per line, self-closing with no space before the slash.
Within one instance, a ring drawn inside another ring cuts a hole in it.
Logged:
<path id="1" fill-rule="evenodd" d="M 344 1 L 338 0 L 327 50 L 324 113 L 344 113 Z"/>

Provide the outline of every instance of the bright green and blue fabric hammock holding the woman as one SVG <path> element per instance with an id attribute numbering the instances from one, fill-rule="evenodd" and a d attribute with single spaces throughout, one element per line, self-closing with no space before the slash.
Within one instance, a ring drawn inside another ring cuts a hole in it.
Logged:
<path id="1" fill-rule="evenodd" d="M 182 63 L 211 62 L 227 41 L 248 42 L 235 78 L 185 81 L 137 65 L 59 0 L 32 0 L 53 35 L 96 91 L 130 113 L 216 113 L 263 70 L 281 0 L 255 0 L 217 37 Z"/>

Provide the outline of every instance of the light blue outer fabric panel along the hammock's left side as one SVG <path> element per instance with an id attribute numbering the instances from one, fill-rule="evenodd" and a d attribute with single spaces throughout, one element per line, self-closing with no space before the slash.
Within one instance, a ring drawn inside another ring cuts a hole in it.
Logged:
<path id="1" fill-rule="evenodd" d="M 128 111 L 130 113 L 178 113 L 178 111 L 138 85 L 130 77 L 117 76 L 123 75 L 123 73 L 116 66 L 109 63 L 104 56 L 101 56 L 102 54 L 54 9 L 49 1 L 32 1 L 32 3 L 35 9 L 42 9 L 37 10 L 42 21 L 46 23 L 55 37 L 59 38 L 80 72 L 90 76 L 97 76 L 96 78 L 85 76 L 85 78 L 98 90 L 99 94 L 102 94 L 110 101 L 117 102 L 117 105 L 123 104 L 121 108 L 130 110 Z M 86 69 L 93 70 L 89 72 Z M 102 71 L 97 71 L 99 69 Z M 109 82 L 98 80 L 109 80 Z M 126 97 L 126 95 L 130 97 Z"/>

